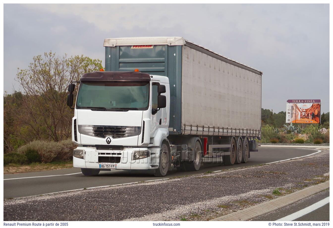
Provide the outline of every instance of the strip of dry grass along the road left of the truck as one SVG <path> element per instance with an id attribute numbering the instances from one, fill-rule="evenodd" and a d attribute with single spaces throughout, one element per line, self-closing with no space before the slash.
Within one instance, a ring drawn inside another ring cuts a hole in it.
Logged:
<path id="1" fill-rule="evenodd" d="M 3 173 L 22 173 L 64 168 L 73 168 L 73 161 L 52 161 L 50 163 L 33 162 L 29 165 L 8 164 L 3 167 Z"/>

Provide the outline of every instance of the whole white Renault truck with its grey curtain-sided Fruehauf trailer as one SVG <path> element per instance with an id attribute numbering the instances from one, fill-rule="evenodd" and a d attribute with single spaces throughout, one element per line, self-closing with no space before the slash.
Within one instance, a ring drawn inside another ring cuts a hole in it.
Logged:
<path id="1" fill-rule="evenodd" d="M 104 40 L 105 71 L 69 85 L 73 166 L 198 170 L 247 162 L 261 135 L 262 72 L 182 37 Z"/>

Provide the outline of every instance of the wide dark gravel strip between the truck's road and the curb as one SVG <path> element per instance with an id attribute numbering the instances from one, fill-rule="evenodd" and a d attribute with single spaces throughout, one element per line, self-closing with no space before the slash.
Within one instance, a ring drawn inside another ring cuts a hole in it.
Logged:
<path id="1" fill-rule="evenodd" d="M 4 220 L 210 220 L 329 179 L 329 151 L 162 181 L 4 200 Z M 273 191 L 275 194 L 273 194 Z"/>

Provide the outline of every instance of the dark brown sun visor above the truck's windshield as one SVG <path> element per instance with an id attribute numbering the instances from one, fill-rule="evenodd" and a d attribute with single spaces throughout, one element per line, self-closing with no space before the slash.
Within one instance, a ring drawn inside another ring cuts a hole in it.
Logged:
<path id="1" fill-rule="evenodd" d="M 150 82 L 150 75 L 141 72 L 94 71 L 85 73 L 80 81 L 135 81 Z"/>

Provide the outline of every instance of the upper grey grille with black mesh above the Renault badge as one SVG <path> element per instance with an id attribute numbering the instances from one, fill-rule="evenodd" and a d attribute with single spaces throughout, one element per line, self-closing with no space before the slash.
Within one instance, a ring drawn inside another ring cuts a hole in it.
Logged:
<path id="1" fill-rule="evenodd" d="M 105 138 L 124 138 L 139 135 L 141 132 L 140 126 L 100 126 L 100 125 L 79 125 L 81 134 Z"/>

